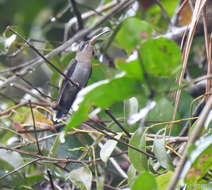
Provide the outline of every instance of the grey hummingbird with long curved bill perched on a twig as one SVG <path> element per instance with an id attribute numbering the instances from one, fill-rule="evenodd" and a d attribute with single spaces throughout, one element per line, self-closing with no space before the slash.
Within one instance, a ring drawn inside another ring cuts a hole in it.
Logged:
<path id="1" fill-rule="evenodd" d="M 67 78 L 64 78 L 62 81 L 54 108 L 56 119 L 67 115 L 78 92 L 87 85 L 92 73 L 93 45 L 100 36 L 107 32 L 109 31 L 101 32 L 88 41 L 80 42 L 76 57 L 70 61 L 64 72 L 73 83 L 67 80 Z"/>

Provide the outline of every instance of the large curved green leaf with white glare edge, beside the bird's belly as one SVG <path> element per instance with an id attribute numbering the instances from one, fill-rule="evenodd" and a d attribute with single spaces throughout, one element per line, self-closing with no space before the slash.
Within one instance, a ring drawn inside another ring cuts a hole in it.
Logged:
<path id="1" fill-rule="evenodd" d="M 84 88 L 79 92 L 74 103 L 76 105 L 81 101 L 78 110 L 73 113 L 66 131 L 88 119 L 92 105 L 107 108 L 116 101 L 121 101 L 140 93 L 142 93 L 142 87 L 139 81 L 121 75 Z"/>

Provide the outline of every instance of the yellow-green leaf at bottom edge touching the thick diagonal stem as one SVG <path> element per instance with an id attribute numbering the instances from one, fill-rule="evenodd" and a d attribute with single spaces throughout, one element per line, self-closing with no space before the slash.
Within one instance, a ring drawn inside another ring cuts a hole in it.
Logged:
<path id="1" fill-rule="evenodd" d="M 157 185 L 158 185 L 158 190 L 164 190 L 164 189 L 166 189 L 168 187 L 168 184 L 169 184 L 169 182 L 171 180 L 172 175 L 173 175 L 173 172 L 172 171 L 168 171 L 167 173 L 159 175 L 156 178 Z"/>

